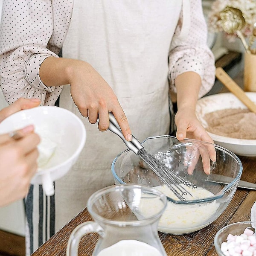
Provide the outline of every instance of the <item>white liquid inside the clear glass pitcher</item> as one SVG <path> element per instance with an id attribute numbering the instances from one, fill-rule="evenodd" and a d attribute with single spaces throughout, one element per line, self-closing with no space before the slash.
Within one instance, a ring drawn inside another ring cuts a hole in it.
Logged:
<path id="1" fill-rule="evenodd" d="M 163 256 L 155 247 L 137 241 L 122 240 L 103 249 L 97 256 Z"/>

